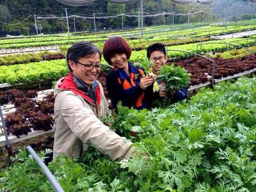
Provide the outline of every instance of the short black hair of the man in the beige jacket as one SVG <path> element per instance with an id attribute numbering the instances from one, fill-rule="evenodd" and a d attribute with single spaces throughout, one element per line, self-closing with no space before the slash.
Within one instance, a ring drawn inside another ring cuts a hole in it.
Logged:
<path id="1" fill-rule="evenodd" d="M 76 42 L 68 49 L 67 52 L 67 63 L 70 71 L 72 71 L 72 69 L 69 65 L 69 60 L 72 60 L 75 62 L 75 64 L 77 64 L 76 61 L 78 61 L 80 58 L 88 57 L 97 53 L 100 54 L 101 59 L 101 50 L 99 50 L 97 46 L 93 45 L 91 42 Z"/>

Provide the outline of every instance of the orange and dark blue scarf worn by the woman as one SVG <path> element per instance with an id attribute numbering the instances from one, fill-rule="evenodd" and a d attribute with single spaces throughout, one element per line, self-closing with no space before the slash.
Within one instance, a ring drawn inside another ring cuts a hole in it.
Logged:
<path id="1" fill-rule="evenodd" d="M 140 78 L 145 75 L 142 69 L 132 66 L 131 63 L 128 63 L 129 74 L 124 71 L 124 69 L 115 68 L 118 73 L 118 83 L 124 88 L 124 92 L 129 92 L 132 87 L 140 86 Z M 132 104 L 132 107 L 135 109 L 148 108 L 147 101 L 144 99 L 144 92 L 140 94 L 136 103 Z"/>

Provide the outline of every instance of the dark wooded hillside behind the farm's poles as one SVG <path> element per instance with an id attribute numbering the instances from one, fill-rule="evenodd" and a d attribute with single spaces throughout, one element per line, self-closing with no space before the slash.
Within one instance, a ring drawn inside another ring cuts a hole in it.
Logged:
<path id="1" fill-rule="evenodd" d="M 256 3 L 244 2 L 243 0 L 229 0 L 229 20 L 248 19 L 253 17 L 247 14 L 256 14 Z M 170 0 L 144 0 L 144 12 L 154 14 L 156 12 L 198 12 L 204 11 L 202 21 L 213 22 L 221 21 L 224 17 L 226 0 L 213 0 L 210 5 L 201 5 L 199 3 L 180 5 L 171 2 Z M 18 25 L 7 25 L 0 23 L 0 35 L 33 35 L 35 34 L 34 14 L 42 16 L 65 16 L 64 8 L 68 8 L 68 15 L 87 15 L 93 16 L 93 13 L 98 13 L 97 16 L 106 16 L 120 13 L 138 14 L 140 8 L 140 0 L 132 0 L 126 4 L 113 4 L 105 0 L 97 0 L 95 3 L 83 7 L 70 7 L 59 3 L 56 0 L 1 0 L 0 1 L 0 22 L 4 23 L 19 23 L 27 16 L 30 16 L 25 21 Z M 104 14 L 102 14 L 104 13 Z M 186 23 L 187 16 L 175 16 L 175 23 Z M 190 17 L 190 22 L 199 22 L 200 16 L 195 15 Z M 41 32 L 44 33 L 59 33 L 67 31 L 66 19 L 41 19 L 38 21 L 42 26 Z M 162 25 L 163 15 L 144 19 L 145 26 Z M 172 23 L 172 16 L 165 17 L 165 24 Z M 69 19 L 70 31 L 90 31 L 94 30 L 93 19 Z M 137 27 L 137 18 L 125 18 L 124 28 Z M 115 19 L 96 19 L 97 30 L 118 29 L 122 27 L 122 18 Z"/>

